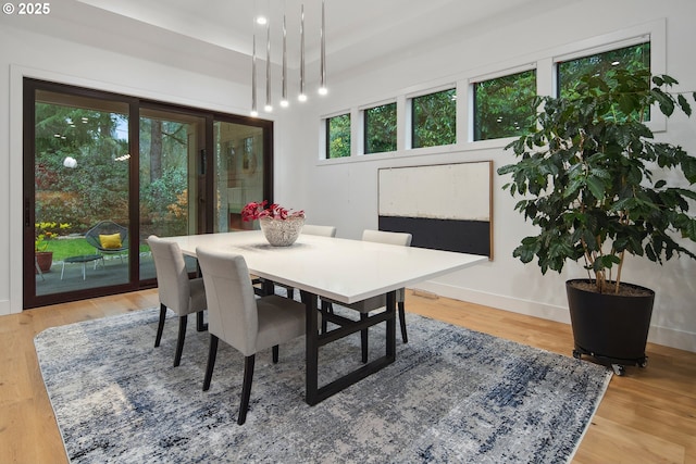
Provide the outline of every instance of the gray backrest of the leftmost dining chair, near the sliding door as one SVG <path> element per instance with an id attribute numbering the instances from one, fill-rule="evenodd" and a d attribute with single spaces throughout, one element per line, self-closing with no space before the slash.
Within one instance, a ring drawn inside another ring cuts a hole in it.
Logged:
<path id="1" fill-rule="evenodd" d="M 191 289 L 184 254 L 177 243 L 151 235 L 148 244 L 154 260 L 160 302 L 177 315 L 190 312 Z"/>

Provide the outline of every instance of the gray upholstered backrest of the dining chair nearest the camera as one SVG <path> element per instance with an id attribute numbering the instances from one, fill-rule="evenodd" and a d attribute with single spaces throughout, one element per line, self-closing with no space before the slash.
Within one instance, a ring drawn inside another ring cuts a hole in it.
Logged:
<path id="1" fill-rule="evenodd" d="M 196 255 L 208 296 L 208 330 L 245 356 L 254 354 L 259 316 L 244 256 L 206 248 Z"/>

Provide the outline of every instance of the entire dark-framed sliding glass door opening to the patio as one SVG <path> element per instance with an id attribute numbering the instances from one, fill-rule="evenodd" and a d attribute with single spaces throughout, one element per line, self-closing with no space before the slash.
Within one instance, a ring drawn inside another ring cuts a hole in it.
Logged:
<path id="1" fill-rule="evenodd" d="M 25 79 L 24 308 L 157 285 L 152 234 L 248 228 L 245 202 L 272 200 L 272 137 L 268 121 Z"/>

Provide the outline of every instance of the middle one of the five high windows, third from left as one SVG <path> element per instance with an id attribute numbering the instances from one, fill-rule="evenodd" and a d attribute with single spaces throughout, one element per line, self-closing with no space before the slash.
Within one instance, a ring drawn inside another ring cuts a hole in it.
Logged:
<path id="1" fill-rule="evenodd" d="M 448 89 L 411 100 L 411 148 L 457 142 L 457 90 Z"/>

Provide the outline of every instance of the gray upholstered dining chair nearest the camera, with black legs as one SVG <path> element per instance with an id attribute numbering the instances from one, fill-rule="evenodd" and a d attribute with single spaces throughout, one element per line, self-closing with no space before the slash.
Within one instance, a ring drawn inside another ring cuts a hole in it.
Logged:
<path id="1" fill-rule="evenodd" d="M 199 247 L 198 263 L 208 298 L 210 351 L 203 379 L 203 391 L 210 383 L 220 339 L 245 356 L 244 383 L 237 424 L 247 418 L 256 353 L 273 350 L 278 361 L 278 344 L 304 335 L 304 305 L 277 294 L 258 298 L 244 256 Z"/>

